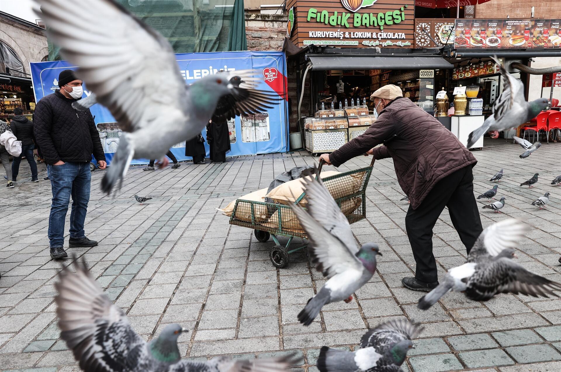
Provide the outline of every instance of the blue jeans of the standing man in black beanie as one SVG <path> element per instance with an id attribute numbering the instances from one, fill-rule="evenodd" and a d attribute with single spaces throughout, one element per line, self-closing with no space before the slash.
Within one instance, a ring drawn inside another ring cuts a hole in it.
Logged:
<path id="1" fill-rule="evenodd" d="M 48 165 L 50 188 L 53 192 L 49 216 L 50 247 L 62 247 L 65 242 L 65 218 L 72 196 L 70 238 L 84 238 L 84 220 L 90 201 L 91 171 L 88 162 L 69 161 Z"/>

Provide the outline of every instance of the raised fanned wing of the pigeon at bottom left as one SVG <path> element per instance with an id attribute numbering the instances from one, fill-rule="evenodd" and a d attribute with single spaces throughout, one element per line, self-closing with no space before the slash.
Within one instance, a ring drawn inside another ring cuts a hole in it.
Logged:
<path id="1" fill-rule="evenodd" d="M 91 276 L 85 262 L 74 262 L 55 283 L 58 295 L 58 327 L 61 338 L 86 372 L 118 372 L 127 369 L 127 356 L 145 345 L 128 323 L 123 310 L 113 305 Z M 133 368 L 134 369 L 134 368 Z"/>

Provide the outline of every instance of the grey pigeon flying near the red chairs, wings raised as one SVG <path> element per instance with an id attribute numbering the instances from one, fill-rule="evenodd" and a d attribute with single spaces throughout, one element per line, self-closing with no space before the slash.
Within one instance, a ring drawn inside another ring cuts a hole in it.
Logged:
<path id="1" fill-rule="evenodd" d="M 549 105 L 549 100 L 546 98 L 539 98 L 531 102 L 526 101 L 522 81 L 508 73 L 496 58 L 491 58 L 494 59 L 496 66 L 499 66 L 503 77 L 502 81 L 505 83 L 504 90 L 493 105 L 493 115 L 485 119 L 483 125 L 468 136 L 467 148 L 472 147 L 486 132 L 491 131 L 493 132 L 491 138 L 498 138 L 500 131 L 507 131 L 529 122 Z"/>

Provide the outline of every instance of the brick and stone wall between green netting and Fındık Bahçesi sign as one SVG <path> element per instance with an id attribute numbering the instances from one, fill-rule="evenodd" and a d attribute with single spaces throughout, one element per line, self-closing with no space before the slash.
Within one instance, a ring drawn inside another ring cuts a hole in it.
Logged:
<path id="1" fill-rule="evenodd" d="M 247 50 L 282 50 L 287 16 L 246 13 Z"/>

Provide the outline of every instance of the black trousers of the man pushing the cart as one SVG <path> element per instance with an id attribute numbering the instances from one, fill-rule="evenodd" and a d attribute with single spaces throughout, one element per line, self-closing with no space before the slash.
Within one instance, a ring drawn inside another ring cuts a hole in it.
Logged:
<path id="1" fill-rule="evenodd" d="M 450 219 L 467 253 L 483 231 L 473 196 L 472 167 L 467 166 L 440 180 L 417 209 L 411 206 L 405 216 L 405 228 L 417 264 L 415 277 L 423 282 L 438 280 L 433 254 L 433 227 L 448 207 Z"/>

